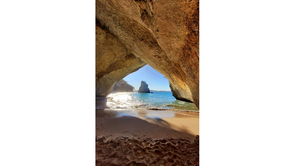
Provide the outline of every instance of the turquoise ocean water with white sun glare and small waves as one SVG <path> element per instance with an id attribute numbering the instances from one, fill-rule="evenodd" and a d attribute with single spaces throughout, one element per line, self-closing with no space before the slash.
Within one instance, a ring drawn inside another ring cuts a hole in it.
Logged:
<path id="1" fill-rule="evenodd" d="M 193 103 L 176 100 L 172 92 L 119 92 L 107 96 L 110 108 L 198 111 Z"/>

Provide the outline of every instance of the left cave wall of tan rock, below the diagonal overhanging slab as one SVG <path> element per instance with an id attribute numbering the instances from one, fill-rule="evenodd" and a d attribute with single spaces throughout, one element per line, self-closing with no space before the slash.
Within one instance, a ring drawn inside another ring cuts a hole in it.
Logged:
<path id="1" fill-rule="evenodd" d="M 104 26 L 95 25 L 95 96 L 110 94 L 115 82 L 137 71 L 145 62 L 126 50 Z"/>

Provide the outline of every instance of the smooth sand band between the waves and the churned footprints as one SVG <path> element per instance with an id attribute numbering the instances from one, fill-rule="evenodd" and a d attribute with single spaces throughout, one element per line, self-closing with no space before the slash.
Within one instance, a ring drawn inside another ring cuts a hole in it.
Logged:
<path id="1" fill-rule="evenodd" d="M 199 135 L 198 114 L 128 109 L 96 109 L 95 136 L 185 138 Z M 162 117 L 162 118 L 161 118 Z"/>

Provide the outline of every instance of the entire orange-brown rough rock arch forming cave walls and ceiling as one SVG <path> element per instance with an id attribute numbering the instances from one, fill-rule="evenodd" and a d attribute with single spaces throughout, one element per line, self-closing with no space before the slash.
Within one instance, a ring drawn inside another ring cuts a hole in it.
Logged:
<path id="1" fill-rule="evenodd" d="M 96 96 L 145 64 L 199 108 L 199 1 L 96 0 Z"/>

